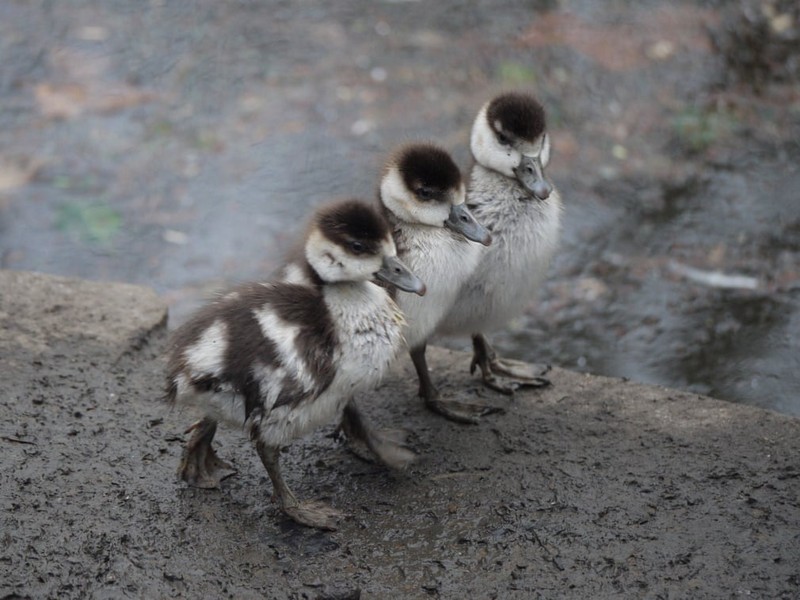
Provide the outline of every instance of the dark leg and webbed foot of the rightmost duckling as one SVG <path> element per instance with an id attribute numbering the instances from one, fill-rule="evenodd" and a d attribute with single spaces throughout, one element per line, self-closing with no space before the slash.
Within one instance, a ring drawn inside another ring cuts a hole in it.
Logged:
<path id="1" fill-rule="evenodd" d="M 472 348 L 474 354 L 469 365 L 469 372 L 474 373 L 475 367 L 480 367 L 484 385 L 501 394 L 510 396 L 521 387 L 550 385 L 550 380 L 544 376 L 550 370 L 549 365 L 536 365 L 499 358 L 482 333 L 472 336 Z M 509 379 L 503 381 L 497 375 L 503 375 Z"/>

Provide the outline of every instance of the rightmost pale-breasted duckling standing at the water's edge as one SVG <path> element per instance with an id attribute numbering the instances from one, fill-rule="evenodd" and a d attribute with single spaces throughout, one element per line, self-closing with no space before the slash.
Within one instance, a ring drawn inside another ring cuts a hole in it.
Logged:
<path id="1" fill-rule="evenodd" d="M 501 94 L 478 112 L 470 136 L 475 163 L 467 206 L 491 232 L 493 244 L 437 330 L 472 334 L 470 372 L 479 367 L 483 382 L 505 394 L 549 383 L 549 367 L 499 358 L 483 333 L 530 304 L 558 247 L 562 203 L 544 172 L 550 162 L 545 125 L 544 108 L 527 93 Z"/>

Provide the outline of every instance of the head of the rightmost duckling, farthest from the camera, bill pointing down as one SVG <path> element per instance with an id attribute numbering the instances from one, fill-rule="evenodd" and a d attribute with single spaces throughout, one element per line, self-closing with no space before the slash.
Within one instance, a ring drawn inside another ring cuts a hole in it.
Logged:
<path id="1" fill-rule="evenodd" d="M 544 108 L 532 95 L 510 92 L 487 102 L 472 126 L 470 148 L 479 164 L 516 178 L 534 198 L 546 200 L 553 191 L 544 175 L 550 162 Z"/>

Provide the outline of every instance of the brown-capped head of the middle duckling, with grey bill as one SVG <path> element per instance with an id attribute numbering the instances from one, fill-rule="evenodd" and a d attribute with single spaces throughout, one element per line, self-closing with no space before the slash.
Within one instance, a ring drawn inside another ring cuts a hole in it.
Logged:
<path id="1" fill-rule="evenodd" d="M 486 246 L 489 232 L 466 204 L 464 181 L 450 154 L 433 144 L 409 144 L 395 151 L 384 169 L 380 199 L 409 225 L 447 227 Z"/>

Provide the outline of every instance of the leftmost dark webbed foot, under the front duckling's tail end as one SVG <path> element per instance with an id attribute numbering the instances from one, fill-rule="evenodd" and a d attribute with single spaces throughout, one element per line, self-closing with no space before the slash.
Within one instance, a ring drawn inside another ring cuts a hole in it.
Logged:
<path id="1" fill-rule="evenodd" d="M 217 422 L 205 417 L 192 424 L 185 433 L 190 432 L 192 437 L 183 450 L 178 476 L 193 487 L 219 487 L 220 481 L 236 473 L 236 469 L 221 460 L 211 447 Z"/>

